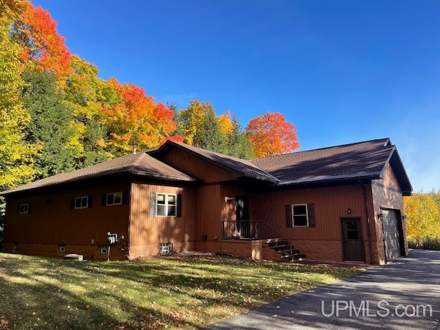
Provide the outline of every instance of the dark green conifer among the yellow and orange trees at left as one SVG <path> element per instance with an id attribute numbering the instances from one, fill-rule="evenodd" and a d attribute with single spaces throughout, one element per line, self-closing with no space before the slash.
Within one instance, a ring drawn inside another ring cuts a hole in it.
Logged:
<path id="1" fill-rule="evenodd" d="M 23 104 L 31 115 L 26 139 L 42 146 L 41 156 L 36 159 L 39 178 L 74 170 L 74 117 L 56 77 L 49 72 L 28 70 L 23 73 L 23 80 Z"/>

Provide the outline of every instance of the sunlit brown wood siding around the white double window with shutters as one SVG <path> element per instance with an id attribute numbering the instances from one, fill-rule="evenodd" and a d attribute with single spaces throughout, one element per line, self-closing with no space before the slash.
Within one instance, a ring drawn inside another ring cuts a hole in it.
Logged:
<path id="1" fill-rule="evenodd" d="M 130 245 L 194 241 L 194 189 L 134 182 L 131 186 Z M 181 217 L 151 217 L 151 192 L 180 194 Z"/>

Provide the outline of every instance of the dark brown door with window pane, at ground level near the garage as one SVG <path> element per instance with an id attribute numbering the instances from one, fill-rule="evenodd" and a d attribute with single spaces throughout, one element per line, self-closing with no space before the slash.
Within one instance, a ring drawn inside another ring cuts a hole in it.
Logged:
<path id="1" fill-rule="evenodd" d="M 345 261 L 365 261 L 360 218 L 342 219 Z"/>

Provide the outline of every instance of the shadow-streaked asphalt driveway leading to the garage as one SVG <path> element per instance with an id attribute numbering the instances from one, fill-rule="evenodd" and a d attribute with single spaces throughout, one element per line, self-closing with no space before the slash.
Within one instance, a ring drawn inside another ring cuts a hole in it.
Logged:
<path id="1" fill-rule="evenodd" d="M 411 250 L 373 267 L 203 329 L 440 330 L 440 252 Z"/>

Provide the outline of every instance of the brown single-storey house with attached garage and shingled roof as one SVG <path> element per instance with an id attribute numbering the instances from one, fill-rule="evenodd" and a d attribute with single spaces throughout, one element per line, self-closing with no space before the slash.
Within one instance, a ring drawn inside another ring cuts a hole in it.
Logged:
<path id="1" fill-rule="evenodd" d="M 408 254 L 411 190 L 389 139 L 253 161 L 168 141 L 2 192 L 3 252 L 384 264 Z"/>

